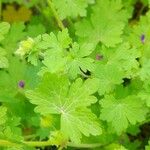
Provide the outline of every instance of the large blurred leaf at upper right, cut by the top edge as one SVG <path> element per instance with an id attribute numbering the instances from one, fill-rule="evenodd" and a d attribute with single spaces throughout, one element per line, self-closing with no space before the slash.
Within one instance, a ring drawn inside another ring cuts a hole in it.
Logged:
<path id="1" fill-rule="evenodd" d="M 107 47 L 114 47 L 122 42 L 121 35 L 127 19 L 128 14 L 121 0 L 98 0 L 91 19 L 83 19 L 76 24 L 76 35 L 88 42 L 101 42 Z"/>

